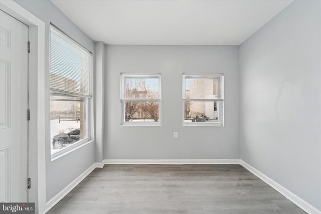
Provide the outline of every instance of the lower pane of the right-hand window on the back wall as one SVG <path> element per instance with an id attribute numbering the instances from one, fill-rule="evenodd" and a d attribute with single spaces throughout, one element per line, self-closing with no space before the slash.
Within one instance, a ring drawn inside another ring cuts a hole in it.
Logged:
<path id="1" fill-rule="evenodd" d="M 185 122 L 218 122 L 216 101 L 184 101 Z"/>

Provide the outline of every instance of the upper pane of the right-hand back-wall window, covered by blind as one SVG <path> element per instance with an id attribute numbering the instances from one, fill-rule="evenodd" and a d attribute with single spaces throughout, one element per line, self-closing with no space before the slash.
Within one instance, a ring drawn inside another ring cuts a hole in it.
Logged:
<path id="1" fill-rule="evenodd" d="M 220 99 L 220 77 L 186 77 L 185 98 L 186 99 Z"/>

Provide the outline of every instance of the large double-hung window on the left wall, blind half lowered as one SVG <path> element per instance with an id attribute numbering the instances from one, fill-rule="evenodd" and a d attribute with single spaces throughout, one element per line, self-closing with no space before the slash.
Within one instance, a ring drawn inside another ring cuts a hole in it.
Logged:
<path id="1" fill-rule="evenodd" d="M 55 156 L 89 140 L 92 56 L 54 26 L 49 44 L 50 145 Z"/>

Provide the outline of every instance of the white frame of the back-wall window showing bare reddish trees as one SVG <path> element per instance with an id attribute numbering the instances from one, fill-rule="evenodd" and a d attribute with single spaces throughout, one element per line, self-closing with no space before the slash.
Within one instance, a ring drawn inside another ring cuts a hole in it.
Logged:
<path id="1" fill-rule="evenodd" d="M 125 78 L 158 78 L 158 99 L 125 98 Z M 127 122 L 125 121 L 125 102 L 158 102 L 158 121 Z M 162 75 L 159 73 L 121 73 L 120 74 L 120 125 L 123 126 L 161 126 L 162 125 Z"/>

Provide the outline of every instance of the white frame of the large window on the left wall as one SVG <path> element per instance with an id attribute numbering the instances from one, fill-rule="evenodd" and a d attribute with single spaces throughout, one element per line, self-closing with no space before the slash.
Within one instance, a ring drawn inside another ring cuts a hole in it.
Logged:
<path id="1" fill-rule="evenodd" d="M 86 123 L 85 123 L 85 130 L 87 133 L 87 136 L 84 137 L 84 139 L 79 140 L 78 142 L 75 142 L 69 146 L 67 146 L 66 148 L 62 148 L 58 151 L 55 151 L 53 153 L 51 153 L 51 160 L 55 160 L 59 157 L 64 156 L 65 154 L 81 147 L 82 145 L 89 143 L 91 141 L 91 130 L 90 130 L 90 122 L 91 122 L 91 97 L 92 97 L 92 76 L 93 76 L 93 57 L 92 57 L 92 53 L 90 51 L 88 51 L 87 49 L 85 49 L 82 45 L 80 45 L 79 43 L 77 43 L 76 41 L 74 41 L 72 38 L 70 38 L 67 34 L 65 34 L 64 32 L 62 32 L 61 30 L 59 30 L 57 27 L 53 26 L 50 24 L 50 31 L 54 31 L 56 34 L 59 34 L 60 36 L 64 37 L 64 40 L 70 44 L 72 44 L 73 46 L 76 46 L 78 49 L 81 49 L 82 51 L 84 51 L 85 53 L 87 53 L 89 55 L 89 95 L 79 95 L 79 94 L 73 94 L 73 93 L 69 93 L 69 92 L 64 92 L 64 91 L 54 91 L 54 90 L 50 90 L 50 97 L 51 96 L 69 96 L 69 97 L 80 97 L 80 98 L 84 98 L 84 118 L 86 118 Z M 66 101 L 71 101 L 71 100 L 66 100 Z M 52 147 L 52 139 L 50 139 L 50 148 Z"/>

